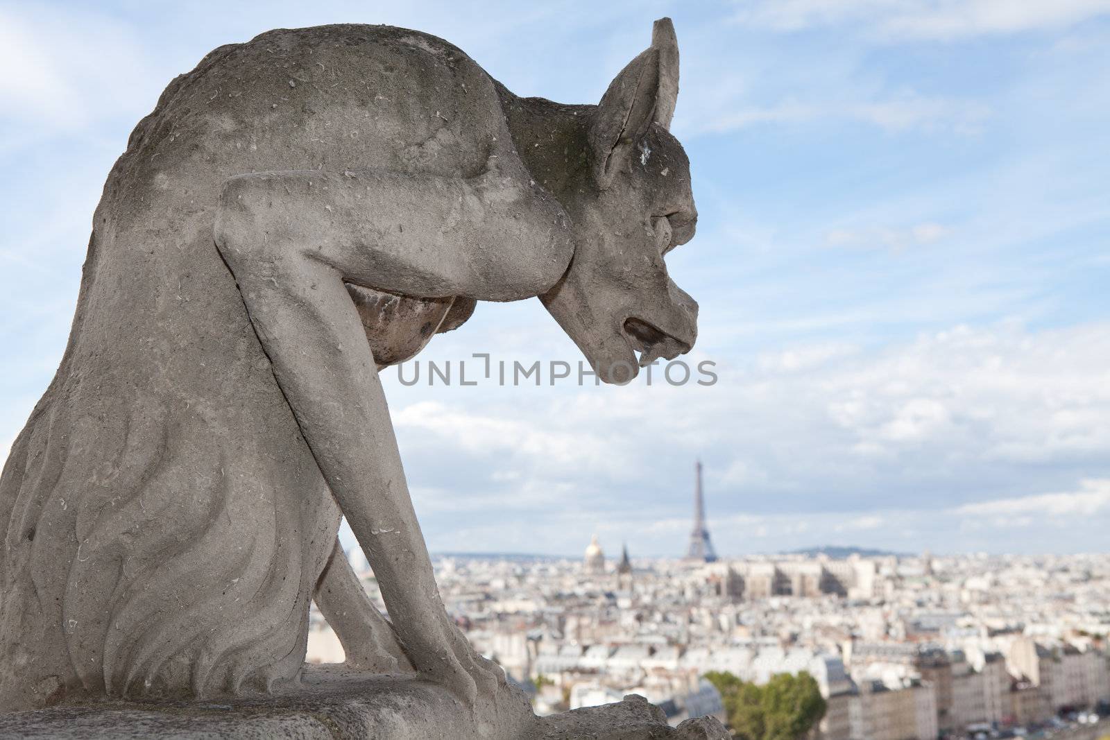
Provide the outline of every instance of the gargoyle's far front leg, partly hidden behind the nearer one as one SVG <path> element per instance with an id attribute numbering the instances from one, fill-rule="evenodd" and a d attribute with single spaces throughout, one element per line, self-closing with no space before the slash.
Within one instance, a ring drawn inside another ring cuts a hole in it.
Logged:
<path id="1" fill-rule="evenodd" d="M 374 673 L 412 670 L 393 627 L 366 596 L 337 539 L 320 575 L 315 600 L 343 645 L 347 666 Z"/>

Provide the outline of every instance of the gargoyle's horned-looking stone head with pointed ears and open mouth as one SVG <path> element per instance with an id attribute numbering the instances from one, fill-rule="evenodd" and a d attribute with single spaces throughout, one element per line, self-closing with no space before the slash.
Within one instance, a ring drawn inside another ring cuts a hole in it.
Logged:
<path id="1" fill-rule="evenodd" d="M 664 262 L 694 236 L 697 222 L 689 161 L 667 130 L 677 95 L 678 43 L 664 18 L 652 45 L 593 111 L 588 182 L 565 203 L 574 259 L 539 296 L 607 383 L 626 383 L 639 367 L 689 352 L 697 336 L 697 303 Z"/>

